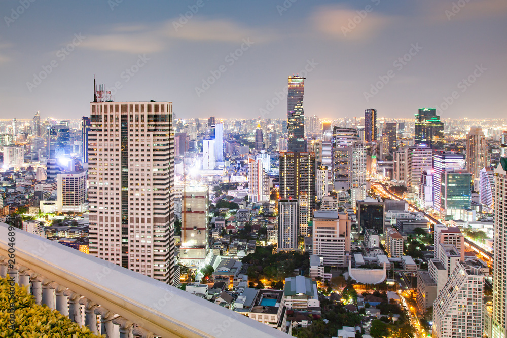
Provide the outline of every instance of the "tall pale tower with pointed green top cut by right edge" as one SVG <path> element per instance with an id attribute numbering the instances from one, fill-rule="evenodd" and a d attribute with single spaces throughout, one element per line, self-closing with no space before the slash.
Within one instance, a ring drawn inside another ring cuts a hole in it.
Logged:
<path id="1" fill-rule="evenodd" d="M 495 169 L 493 259 L 493 338 L 507 337 L 507 157 Z"/>

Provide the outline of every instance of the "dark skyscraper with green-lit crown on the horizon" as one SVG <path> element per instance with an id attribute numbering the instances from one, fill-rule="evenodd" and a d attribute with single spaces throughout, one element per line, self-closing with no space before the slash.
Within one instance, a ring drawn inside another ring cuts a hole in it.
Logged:
<path id="1" fill-rule="evenodd" d="M 419 109 L 415 115 L 414 144 L 424 144 L 432 149 L 444 147 L 444 123 L 435 109 Z"/>

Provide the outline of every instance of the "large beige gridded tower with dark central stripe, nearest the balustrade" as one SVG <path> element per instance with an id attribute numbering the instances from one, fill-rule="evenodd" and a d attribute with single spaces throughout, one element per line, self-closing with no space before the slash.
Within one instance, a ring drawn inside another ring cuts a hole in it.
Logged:
<path id="1" fill-rule="evenodd" d="M 90 110 L 90 254 L 179 282 L 172 103 L 92 102 Z"/>

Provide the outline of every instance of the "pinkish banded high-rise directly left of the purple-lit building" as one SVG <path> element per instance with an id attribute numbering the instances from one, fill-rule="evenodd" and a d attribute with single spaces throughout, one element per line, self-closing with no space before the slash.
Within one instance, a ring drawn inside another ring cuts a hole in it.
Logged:
<path id="1" fill-rule="evenodd" d="M 411 146 L 407 151 L 407 169 L 405 171 L 407 191 L 419 194 L 419 181 L 424 169 L 433 167 L 433 158 L 431 148 L 420 145 Z"/>

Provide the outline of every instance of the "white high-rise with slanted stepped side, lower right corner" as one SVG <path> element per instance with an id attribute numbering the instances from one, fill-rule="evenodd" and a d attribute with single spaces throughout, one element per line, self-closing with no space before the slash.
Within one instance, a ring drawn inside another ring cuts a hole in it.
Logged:
<path id="1" fill-rule="evenodd" d="M 482 337 L 483 278 L 464 262 L 456 265 L 433 305 L 433 337 Z"/>

